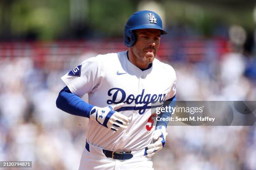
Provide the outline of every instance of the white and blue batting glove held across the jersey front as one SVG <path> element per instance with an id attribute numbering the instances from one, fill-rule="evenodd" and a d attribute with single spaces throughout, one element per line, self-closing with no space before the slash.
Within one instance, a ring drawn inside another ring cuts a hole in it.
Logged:
<path id="1" fill-rule="evenodd" d="M 124 103 L 119 103 L 117 105 L 110 105 L 103 108 L 94 106 L 90 112 L 90 119 L 95 120 L 100 125 L 114 131 L 127 129 L 129 125 L 129 118 L 119 112 L 114 111 L 122 107 L 123 104 Z"/>

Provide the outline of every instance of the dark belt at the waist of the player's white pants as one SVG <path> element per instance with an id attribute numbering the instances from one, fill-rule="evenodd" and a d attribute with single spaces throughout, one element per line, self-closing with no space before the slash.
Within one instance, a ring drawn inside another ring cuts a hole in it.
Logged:
<path id="1" fill-rule="evenodd" d="M 85 148 L 88 152 L 90 152 L 90 145 L 86 141 Z M 131 154 L 131 151 L 111 151 L 111 150 L 105 150 L 102 149 L 102 152 L 107 158 L 117 159 L 117 160 L 128 160 L 133 158 L 133 154 Z"/>

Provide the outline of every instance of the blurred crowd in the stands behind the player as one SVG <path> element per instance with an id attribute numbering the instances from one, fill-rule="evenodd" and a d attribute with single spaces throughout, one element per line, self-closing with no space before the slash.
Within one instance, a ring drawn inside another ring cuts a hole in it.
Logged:
<path id="1" fill-rule="evenodd" d="M 256 58 L 243 55 L 241 44 L 230 40 L 228 53 L 212 57 L 209 50 L 203 62 L 160 57 L 176 70 L 178 100 L 256 100 Z M 0 160 L 32 161 L 36 170 L 78 169 L 88 120 L 57 109 L 55 101 L 65 86 L 60 77 L 97 53 L 0 58 Z M 167 131 L 166 147 L 153 158 L 156 170 L 256 169 L 255 126 Z"/>

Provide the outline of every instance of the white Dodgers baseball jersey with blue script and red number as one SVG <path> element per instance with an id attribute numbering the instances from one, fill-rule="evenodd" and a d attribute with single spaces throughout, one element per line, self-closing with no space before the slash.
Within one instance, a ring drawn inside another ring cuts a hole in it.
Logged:
<path id="1" fill-rule="evenodd" d="M 163 103 L 176 93 L 176 74 L 170 65 L 154 59 L 152 67 L 142 71 L 128 60 L 127 51 L 89 58 L 61 79 L 72 93 L 80 97 L 88 93 L 91 105 L 124 102 L 118 112 L 131 119 L 126 130 L 115 132 L 89 120 L 88 143 L 107 150 L 146 148 L 154 132 L 151 103 Z"/>

